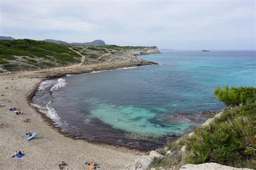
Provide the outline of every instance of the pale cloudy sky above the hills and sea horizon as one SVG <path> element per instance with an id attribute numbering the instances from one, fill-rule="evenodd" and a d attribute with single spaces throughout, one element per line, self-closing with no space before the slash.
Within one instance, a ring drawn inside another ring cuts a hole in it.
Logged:
<path id="1" fill-rule="evenodd" d="M 255 1 L 0 0 L 0 35 L 174 50 L 255 50 Z"/>

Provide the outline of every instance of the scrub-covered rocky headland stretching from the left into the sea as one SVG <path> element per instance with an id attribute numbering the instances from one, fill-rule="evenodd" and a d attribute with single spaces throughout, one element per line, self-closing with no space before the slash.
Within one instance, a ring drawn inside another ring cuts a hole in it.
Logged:
<path id="1" fill-rule="evenodd" d="M 36 77 L 157 64 L 137 56 L 159 53 L 157 47 L 64 45 L 31 39 L 2 40 L 0 47 L 0 74 L 33 71 Z"/>

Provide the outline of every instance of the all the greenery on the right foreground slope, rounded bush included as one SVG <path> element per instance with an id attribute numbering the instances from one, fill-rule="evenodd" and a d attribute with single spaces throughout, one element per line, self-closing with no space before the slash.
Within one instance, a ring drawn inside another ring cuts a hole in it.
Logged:
<path id="1" fill-rule="evenodd" d="M 172 154 L 153 161 L 152 167 L 170 168 L 183 164 L 218 164 L 256 168 L 256 101 L 254 87 L 217 87 L 214 94 L 228 105 L 219 118 L 201 125 L 194 135 L 184 135 L 178 142 L 168 142 Z M 181 157 L 180 148 L 186 146 Z M 172 156 L 174 155 L 174 156 Z M 175 157 L 175 158 L 174 158 Z"/>

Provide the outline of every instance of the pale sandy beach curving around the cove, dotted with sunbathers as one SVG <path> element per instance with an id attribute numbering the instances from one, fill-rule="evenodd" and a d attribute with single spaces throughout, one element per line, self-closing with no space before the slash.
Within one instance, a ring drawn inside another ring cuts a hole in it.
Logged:
<path id="1" fill-rule="evenodd" d="M 0 124 L 8 125 L 8 128 L 0 128 L 0 169 L 56 169 L 61 161 L 68 164 L 65 169 L 87 169 L 84 161 L 96 161 L 103 169 L 123 169 L 143 154 L 124 147 L 92 144 L 65 137 L 36 112 L 27 98 L 43 78 L 56 76 L 52 71 L 59 76 L 72 73 L 67 70 L 68 67 L 64 72 L 49 69 L 0 76 L 0 93 L 4 95 L 0 96 L 0 104 L 5 105 L 0 107 Z M 10 106 L 21 109 L 24 114 L 16 115 L 8 111 Z M 30 123 L 23 121 L 27 117 L 31 119 Z M 38 137 L 26 140 L 25 132 L 33 131 L 38 133 Z M 25 156 L 11 158 L 18 150 Z"/>

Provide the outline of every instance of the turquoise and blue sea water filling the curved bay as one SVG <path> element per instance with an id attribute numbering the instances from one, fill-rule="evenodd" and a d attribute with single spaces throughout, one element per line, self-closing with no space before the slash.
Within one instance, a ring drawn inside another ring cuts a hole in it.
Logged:
<path id="1" fill-rule="evenodd" d="M 77 138 L 152 149 L 203 123 L 202 111 L 226 107 L 215 87 L 256 86 L 255 51 L 140 57 L 160 65 L 66 76 L 52 91 L 50 80 L 33 101 L 48 104 L 63 131 Z"/>

